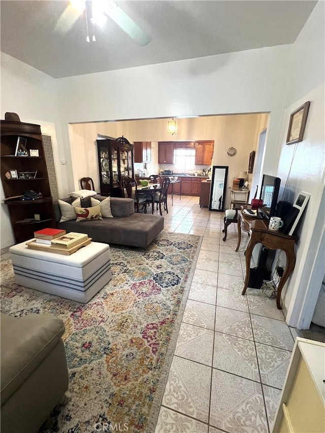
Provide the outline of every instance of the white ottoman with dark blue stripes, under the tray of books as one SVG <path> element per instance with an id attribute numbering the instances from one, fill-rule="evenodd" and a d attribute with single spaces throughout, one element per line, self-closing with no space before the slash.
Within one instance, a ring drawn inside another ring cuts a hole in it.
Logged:
<path id="1" fill-rule="evenodd" d="M 9 249 L 17 284 L 86 303 L 112 278 L 110 247 L 91 242 L 71 255 Z"/>

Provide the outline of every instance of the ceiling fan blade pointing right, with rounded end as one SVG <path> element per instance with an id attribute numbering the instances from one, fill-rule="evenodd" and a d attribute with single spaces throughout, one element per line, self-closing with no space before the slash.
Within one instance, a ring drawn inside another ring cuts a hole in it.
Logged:
<path id="1" fill-rule="evenodd" d="M 108 7 L 105 9 L 105 14 L 115 21 L 139 45 L 145 46 L 151 41 L 151 36 L 143 31 L 116 3 L 110 1 Z"/>

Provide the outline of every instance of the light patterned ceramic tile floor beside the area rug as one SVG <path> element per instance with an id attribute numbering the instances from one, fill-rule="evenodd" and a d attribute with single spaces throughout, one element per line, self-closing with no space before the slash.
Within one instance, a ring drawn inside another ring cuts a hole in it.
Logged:
<path id="1" fill-rule="evenodd" d="M 164 217 L 166 229 L 203 242 L 155 433 L 268 433 L 294 337 L 275 299 L 241 294 L 248 237 L 236 253 L 237 227 L 223 242 L 223 213 L 199 197 L 176 196 Z"/>

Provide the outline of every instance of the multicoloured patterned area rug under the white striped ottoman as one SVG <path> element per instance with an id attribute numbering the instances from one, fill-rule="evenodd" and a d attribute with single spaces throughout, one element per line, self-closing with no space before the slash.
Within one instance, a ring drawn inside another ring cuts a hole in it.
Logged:
<path id="1" fill-rule="evenodd" d="M 163 231 L 147 249 L 112 247 L 112 280 L 86 305 L 17 285 L 2 261 L 1 311 L 66 326 L 69 390 L 40 431 L 154 431 L 201 241 Z"/>

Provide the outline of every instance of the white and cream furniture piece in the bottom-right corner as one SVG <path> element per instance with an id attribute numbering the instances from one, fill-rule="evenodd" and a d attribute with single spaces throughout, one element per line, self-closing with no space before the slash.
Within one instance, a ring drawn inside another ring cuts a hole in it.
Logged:
<path id="1" fill-rule="evenodd" d="M 324 433 L 325 344 L 297 338 L 273 433 Z"/>

